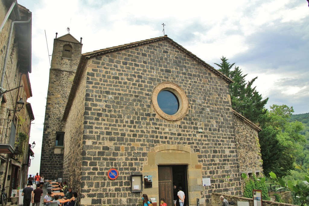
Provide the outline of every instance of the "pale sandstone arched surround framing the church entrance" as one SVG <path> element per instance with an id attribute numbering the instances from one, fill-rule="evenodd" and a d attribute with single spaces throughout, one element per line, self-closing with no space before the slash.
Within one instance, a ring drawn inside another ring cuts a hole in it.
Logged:
<path id="1" fill-rule="evenodd" d="M 152 188 L 144 188 L 143 193 L 146 193 L 149 197 L 155 197 L 159 203 L 159 198 L 161 198 L 159 197 L 159 182 L 162 182 L 162 177 L 159 177 L 158 166 L 159 168 L 170 166 L 172 169 L 179 165 L 186 169 L 185 178 L 187 179 L 187 184 L 184 190 L 186 190 L 188 194 L 188 196 L 186 196 L 188 200 L 187 204 L 196 205 L 196 198 L 200 199 L 200 203 L 205 202 L 204 199 L 201 199 L 201 191 L 204 191 L 204 187 L 202 186 L 202 166 L 198 162 L 198 154 L 199 153 L 195 153 L 190 147 L 183 145 L 158 145 L 152 148 L 147 154 L 148 164 L 143 166 L 142 173 L 143 175 L 152 175 L 153 186 Z M 169 181 L 165 182 L 170 182 L 170 184 L 166 183 L 165 187 L 169 190 L 170 185 L 169 191 L 172 191 L 172 177 L 170 177 Z M 167 195 L 170 195 L 170 193 Z M 168 198 L 165 197 L 165 199 Z"/>

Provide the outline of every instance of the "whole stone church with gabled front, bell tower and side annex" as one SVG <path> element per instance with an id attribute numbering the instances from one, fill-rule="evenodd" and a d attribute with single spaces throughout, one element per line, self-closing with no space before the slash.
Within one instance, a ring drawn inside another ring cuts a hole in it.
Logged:
<path id="1" fill-rule="evenodd" d="M 176 184 L 185 205 L 207 205 L 212 192 L 240 192 L 213 178 L 241 186 L 241 172 L 262 172 L 260 128 L 232 110 L 232 81 L 218 70 L 167 36 L 83 54 L 81 46 L 70 34 L 54 40 L 40 168 L 68 181 L 80 204 L 135 206 L 147 194 L 172 205 Z M 171 114 L 163 91 L 177 100 Z M 132 192 L 133 174 L 152 186 Z"/>

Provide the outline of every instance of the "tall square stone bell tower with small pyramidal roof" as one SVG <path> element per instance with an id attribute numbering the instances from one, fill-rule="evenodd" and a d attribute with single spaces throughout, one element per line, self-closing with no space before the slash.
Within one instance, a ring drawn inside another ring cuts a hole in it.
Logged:
<path id="1" fill-rule="evenodd" d="M 45 179 L 62 177 L 64 122 L 62 116 L 70 94 L 83 44 L 70 33 L 54 39 L 45 109 L 40 174 Z"/>

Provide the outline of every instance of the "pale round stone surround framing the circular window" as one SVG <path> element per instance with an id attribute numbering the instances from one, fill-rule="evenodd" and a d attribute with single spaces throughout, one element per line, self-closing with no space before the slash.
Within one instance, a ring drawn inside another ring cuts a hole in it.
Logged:
<path id="1" fill-rule="evenodd" d="M 157 98 L 158 98 L 158 94 L 160 91 L 162 90 L 168 90 L 173 92 L 176 97 L 179 100 L 179 109 L 176 112 L 176 114 L 174 115 L 168 115 L 165 112 L 163 112 L 161 110 L 161 108 L 159 107 Z M 187 112 L 188 112 L 188 98 L 186 96 L 186 94 L 184 93 L 184 90 L 181 89 L 180 86 L 176 85 L 173 82 L 162 82 L 160 84 L 158 84 L 153 93 L 152 93 L 152 104 L 154 106 L 155 111 L 164 119 L 166 120 L 170 120 L 170 121 L 176 121 L 176 120 L 180 120 L 181 118 L 183 118 Z"/>

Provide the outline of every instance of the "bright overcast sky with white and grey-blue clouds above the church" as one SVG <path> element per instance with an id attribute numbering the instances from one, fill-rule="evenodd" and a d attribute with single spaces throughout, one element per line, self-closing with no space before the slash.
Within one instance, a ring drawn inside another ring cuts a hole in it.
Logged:
<path id="1" fill-rule="evenodd" d="M 165 34 L 208 64 L 224 56 L 236 63 L 272 104 L 309 112 L 309 7 L 306 0 L 58 1 L 18 0 L 32 12 L 33 97 L 30 142 L 36 141 L 29 174 L 39 172 L 55 33 L 83 37 L 82 53 Z"/>

